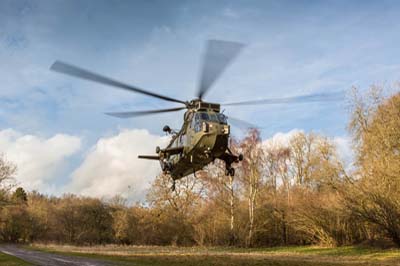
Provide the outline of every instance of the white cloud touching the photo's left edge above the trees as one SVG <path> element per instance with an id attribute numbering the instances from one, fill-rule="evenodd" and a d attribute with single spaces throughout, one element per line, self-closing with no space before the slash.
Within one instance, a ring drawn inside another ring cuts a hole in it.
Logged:
<path id="1" fill-rule="evenodd" d="M 28 190 L 53 192 L 51 183 L 63 168 L 66 158 L 76 153 L 80 146 L 80 138 L 65 134 L 46 139 L 23 135 L 13 129 L 0 131 L 0 151 L 17 165 L 17 182 Z"/>

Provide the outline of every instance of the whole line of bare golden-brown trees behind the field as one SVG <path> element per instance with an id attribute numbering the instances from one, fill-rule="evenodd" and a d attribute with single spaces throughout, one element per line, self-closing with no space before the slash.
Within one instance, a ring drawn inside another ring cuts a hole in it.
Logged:
<path id="1" fill-rule="evenodd" d="M 0 240 L 79 245 L 400 245 L 400 94 L 354 91 L 354 163 L 315 133 L 281 143 L 257 130 L 232 142 L 244 155 L 234 178 L 216 162 L 197 176 L 158 176 L 142 204 L 3 185 Z M 0 160 L 0 183 L 13 176 Z M 14 192 L 13 192 L 14 191 Z"/>

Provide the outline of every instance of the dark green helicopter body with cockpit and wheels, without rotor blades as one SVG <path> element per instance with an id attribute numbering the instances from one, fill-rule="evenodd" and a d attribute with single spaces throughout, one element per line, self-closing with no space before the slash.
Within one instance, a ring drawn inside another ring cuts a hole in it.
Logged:
<path id="1" fill-rule="evenodd" d="M 174 180 L 203 169 L 215 159 L 224 160 L 230 170 L 239 157 L 228 148 L 230 126 L 227 117 L 220 113 L 219 104 L 194 100 L 189 106 L 179 132 L 164 127 L 172 135 L 169 145 L 165 149 L 157 148 L 157 156 L 140 158 L 158 159 L 163 172 Z"/>

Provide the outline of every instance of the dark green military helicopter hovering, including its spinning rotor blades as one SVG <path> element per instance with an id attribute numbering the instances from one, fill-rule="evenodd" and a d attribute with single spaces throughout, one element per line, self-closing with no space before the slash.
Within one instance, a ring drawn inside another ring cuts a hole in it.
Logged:
<path id="1" fill-rule="evenodd" d="M 168 109 L 112 112 L 106 114 L 119 118 L 130 118 L 158 113 L 177 112 L 186 109 L 183 118 L 183 125 L 179 131 L 176 132 L 169 126 L 164 126 L 163 128 L 164 132 L 172 136 L 168 146 L 165 148 L 156 147 L 156 155 L 139 155 L 139 158 L 159 161 L 162 171 L 165 174 L 169 174 L 174 182 L 184 176 L 196 173 L 215 159 L 223 160 L 226 165 L 226 175 L 234 176 L 235 169 L 232 167 L 232 164 L 241 161 L 243 155 L 233 154 L 228 147 L 231 131 L 228 117 L 221 112 L 221 104 L 206 102 L 203 99 L 213 83 L 239 54 L 243 46 L 243 44 L 237 42 L 222 40 L 208 41 L 196 98 L 191 101 L 182 101 L 144 90 L 136 86 L 127 85 L 61 61 L 56 61 L 50 69 L 70 76 L 183 105 Z M 336 101 L 341 100 L 342 98 L 343 93 L 341 92 L 320 93 L 295 97 L 225 103 L 222 105 L 234 106 L 299 102 L 306 103 L 316 101 Z M 235 121 L 236 119 L 229 118 L 229 120 L 232 122 L 232 120 Z"/>

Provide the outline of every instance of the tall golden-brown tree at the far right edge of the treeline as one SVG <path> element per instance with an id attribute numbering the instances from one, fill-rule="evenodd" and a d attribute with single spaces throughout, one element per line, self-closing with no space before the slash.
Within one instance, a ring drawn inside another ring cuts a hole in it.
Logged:
<path id="1" fill-rule="evenodd" d="M 358 168 L 344 197 L 357 216 L 400 245 L 400 94 L 385 99 L 379 92 L 354 93 L 349 129 Z"/>

